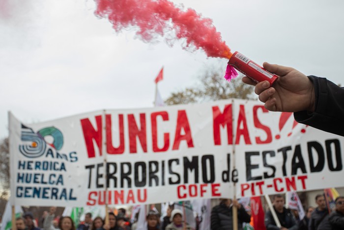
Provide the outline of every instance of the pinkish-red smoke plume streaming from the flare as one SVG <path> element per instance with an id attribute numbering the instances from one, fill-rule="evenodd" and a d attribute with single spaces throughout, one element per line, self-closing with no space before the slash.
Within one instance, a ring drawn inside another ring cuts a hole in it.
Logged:
<path id="1" fill-rule="evenodd" d="M 95 14 L 108 18 L 116 32 L 134 26 L 145 42 L 158 35 L 174 32 L 176 39 L 185 38 L 183 48 L 203 49 L 208 57 L 229 59 L 231 52 L 209 18 L 194 9 L 178 8 L 168 0 L 96 0 Z"/>

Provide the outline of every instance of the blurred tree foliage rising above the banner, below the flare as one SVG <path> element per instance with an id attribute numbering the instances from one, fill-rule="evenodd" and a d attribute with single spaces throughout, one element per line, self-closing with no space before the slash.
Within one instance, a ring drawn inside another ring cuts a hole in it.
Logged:
<path id="1" fill-rule="evenodd" d="M 201 75 L 194 87 L 172 92 L 165 100 L 167 105 L 188 104 L 220 99 L 257 99 L 254 87 L 241 81 L 242 75 L 228 82 L 224 78 L 224 68 L 210 68 Z"/>

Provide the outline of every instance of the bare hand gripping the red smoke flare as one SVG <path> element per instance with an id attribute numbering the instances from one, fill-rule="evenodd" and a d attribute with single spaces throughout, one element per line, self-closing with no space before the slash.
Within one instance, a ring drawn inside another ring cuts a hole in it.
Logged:
<path id="1" fill-rule="evenodd" d="M 287 67 L 264 63 L 263 67 L 279 78 L 270 87 L 268 81 L 255 83 L 249 77 L 243 77 L 242 81 L 249 85 L 255 85 L 255 93 L 264 106 L 270 111 L 297 112 L 311 111 L 315 109 L 315 93 L 312 81 L 298 70 Z"/>

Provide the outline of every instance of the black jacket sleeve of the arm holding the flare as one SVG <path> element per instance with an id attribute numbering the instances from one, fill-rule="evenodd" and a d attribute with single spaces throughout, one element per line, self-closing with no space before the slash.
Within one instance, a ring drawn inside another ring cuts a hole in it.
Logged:
<path id="1" fill-rule="evenodd" d="M 344 136 L 344 89 L 326 78 L 309 76 L 314 84 L 315 111 L 294 113 L 297 122 Z"/>

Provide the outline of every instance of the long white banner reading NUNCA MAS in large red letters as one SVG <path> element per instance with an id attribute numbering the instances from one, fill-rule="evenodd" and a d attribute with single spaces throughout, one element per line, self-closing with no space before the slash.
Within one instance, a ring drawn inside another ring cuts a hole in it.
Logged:
<path id="1" fill-rule="evenodd" d="M 95 206 L 340 187 L 343 137 L 258 101 L 10 120 L 13 204 Z M 235 168 L 234 168 L 235 161 Z M 106 190 L 107 188 L 107 190 Z M 61 203 L 63 202 L 63 203 Z"/>

